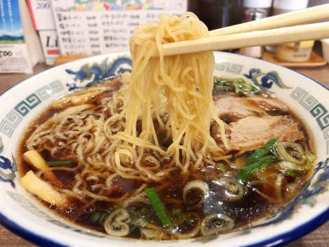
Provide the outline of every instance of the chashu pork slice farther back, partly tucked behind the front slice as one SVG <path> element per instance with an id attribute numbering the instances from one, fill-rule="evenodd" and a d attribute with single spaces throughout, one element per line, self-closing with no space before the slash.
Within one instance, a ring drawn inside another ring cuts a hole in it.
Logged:
<path id="1" fill-rule="evenodd" d="M 267 110 L 288 111 L 286 104 L 278 99 L 259 96 L 238 97 L 233 95 L 221 95 L 214 99 L 215 112 L 224 121 L 237 121 L 247 116 L 267 115 Z"/>

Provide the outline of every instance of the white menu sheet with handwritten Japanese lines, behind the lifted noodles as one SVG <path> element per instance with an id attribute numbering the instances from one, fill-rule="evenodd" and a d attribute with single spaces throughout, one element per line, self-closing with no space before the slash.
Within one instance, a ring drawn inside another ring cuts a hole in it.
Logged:
<path id="1" fill-rule="evenodd" d="M 138 25 L 187 10 L 187 0 L 51 0 L 51 5 L 62 55 L 127 51 Z"/>

